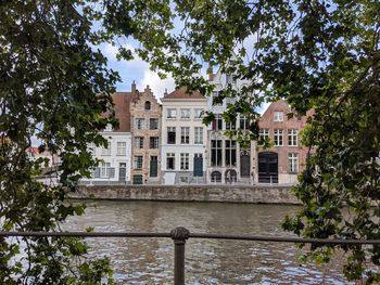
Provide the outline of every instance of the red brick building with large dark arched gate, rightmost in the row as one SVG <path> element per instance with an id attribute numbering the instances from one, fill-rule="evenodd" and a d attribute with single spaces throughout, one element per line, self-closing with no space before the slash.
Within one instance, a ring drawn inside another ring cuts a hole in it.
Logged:
<path id="1" fill-rule="evenodd" d="M 263 114 L 261 135 L 269 138 L 274 146 L 258 146 L 256 176 L 259 183 L 293 184 L 305 168 L 307 148 L 300 144 L 300 131 L 306 126 L 307 116 L 289 116 L 292 113 L 283 100 L 274 102 Z"/>

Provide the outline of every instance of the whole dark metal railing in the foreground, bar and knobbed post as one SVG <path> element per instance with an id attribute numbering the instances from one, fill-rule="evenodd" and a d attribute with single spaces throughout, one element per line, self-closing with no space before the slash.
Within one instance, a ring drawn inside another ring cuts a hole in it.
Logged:
<path id="1" fill-rule="evenodd" d="M 183 226 L 177 226 L 169 233 L 128 233 L 128 232 L 0 232 L 0 236 L 54 236 L 54 237 L 169 237 L 174 241 L 174 285 L 185 284 L 185 244 L 191 238 L 215 238 L 215 239 L 235 239 L 251 242 L 269 243 L 302 243 L 319 245 L 380 245 L 380 239 L 329 239 L 329 238 L 300 238 L 300 237 L 279 237 L 279 236 L 258 236 L 258 235 L 238 235 L 238 234 L 207 234 L 190 233 Z"/>

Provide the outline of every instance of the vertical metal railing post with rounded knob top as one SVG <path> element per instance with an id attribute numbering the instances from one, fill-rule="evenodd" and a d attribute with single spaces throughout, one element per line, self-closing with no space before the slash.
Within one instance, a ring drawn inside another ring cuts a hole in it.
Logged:
<path id="1" fill-rule="evenodd" d="M 183 226 L 172 230 L 174 241 L 174 285 L 185 285 L 185 244 L 190 231 Z"/>

